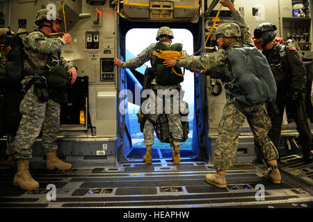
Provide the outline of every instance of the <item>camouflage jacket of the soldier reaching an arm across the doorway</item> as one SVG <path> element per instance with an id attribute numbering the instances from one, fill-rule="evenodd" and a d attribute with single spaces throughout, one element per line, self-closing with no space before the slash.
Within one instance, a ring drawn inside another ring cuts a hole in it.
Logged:
<path id="1" fill-rule="evenodd" d="M 228 46 L 228 48 L 232 47 L 234 44 L 249 44 L 250 46 L 254 46 L 248 25 L 240 12 L 236 10 L 236 12 L 232 13 L 232 17 L 241 30 L 241 42 L 234 42 L 232 45 Z M 212 73 L 216 73 L 214 78 L 220 78 L 223 82 L 228 83 L 230 82 L 232 73 L 228 63 L 227 49 L 218 49 L 218 51 L 214 53 L 204 54 L 203 56 L 190 56 L 178 60 L 176 65 L 177 67 L 185 67 L 193 72 L 201 72 L 204 70 L 213 71 Z"/>

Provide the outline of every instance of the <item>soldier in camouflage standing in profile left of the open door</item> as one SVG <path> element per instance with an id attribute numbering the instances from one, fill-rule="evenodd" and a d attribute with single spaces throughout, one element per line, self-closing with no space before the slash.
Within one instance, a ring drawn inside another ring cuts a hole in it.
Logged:
<path id="1" fill-rule="evenodd" d="M 61 57 L 61 47 L 70 44 L 72 37 L 65 34 L 62 37 L 51 37 L 51 33 L 60 30 L 60 15 L 48 20 L 50 10 L 39 10 L 35 15 L 35 24 L 38 30 L 28 33 L 23 37 L 25 53 L 28 59 L 24 62 L 24 72 L 26 74 L 22 85 L 26 91 L 25 97 L 20 104 L 19 110 L 22 113 L 22 120 L 15 137 L 15 157 L 17 159 L 17 173 L 15 174 L 13 185 L 25 190 L 33 190 L 39 187 L 29 173 L 29 160 L 32 157 L 32 146 L 42 129 L 42 147 L 47 155 L 47 169 L 68 170 L 71 164 L 58 159 L 56 151 L 56 136 L 60 124 L 60 108 L 58 103 L 61 92 L 54 92 L 47 89 L 45 85 L 45 74 L 53 67 L 65 67 L 65 73 L 72 74 L 71 84 L 77 77 L 77 69 L 70 62 Z M 60 65 L 60 66 L 57 66 Z M 67 74 L 70 78 L 70 74 Z M 28 89 L 28 90 L 27 90 Z M 66 90 L 65 90 L 66 91 Z M 49 94 L 47 94 L 49 92 Z"/>

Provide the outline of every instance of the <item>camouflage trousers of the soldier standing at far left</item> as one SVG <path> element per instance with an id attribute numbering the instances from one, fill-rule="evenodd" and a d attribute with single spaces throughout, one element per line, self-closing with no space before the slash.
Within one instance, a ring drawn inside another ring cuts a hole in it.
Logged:
<path id="1" fill-rule="evenodd" d="M 28 80 L 24 79 L 23 86 L 27 82 Z M 14 142 L 15 157 L 24 160 L 32 157 L 32 146 L 40 134 L 40 130 L 42 130 L 42 147 L 45 152 L 56 151 L 58 149 L 56 136 L 60 127 L 60 103 L 51 99 L 41 103 L 33 93 L 32 86 L 19 105 L 19 110 L 22 119 Z"/>

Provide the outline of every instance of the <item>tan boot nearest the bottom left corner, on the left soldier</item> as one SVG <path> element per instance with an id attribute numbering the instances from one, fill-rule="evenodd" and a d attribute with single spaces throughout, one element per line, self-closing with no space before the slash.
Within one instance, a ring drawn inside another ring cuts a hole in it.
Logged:
<path id="1" fill-rule="evenodd" d="M 29 173 L 29 160 L 17 160 L 17 173 L 15 173 L 13 185 L 24 190 L 33 190 L 39 187 L 39 183 Z"/>

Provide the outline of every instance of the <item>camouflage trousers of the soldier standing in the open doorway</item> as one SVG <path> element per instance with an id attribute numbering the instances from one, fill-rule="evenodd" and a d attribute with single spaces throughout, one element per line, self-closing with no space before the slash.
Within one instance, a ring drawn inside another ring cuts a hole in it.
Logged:
<path id="1" fill-rule="evenodd" d="M 170 85 L 170 86 L 162 86 L 162 85 L 152 85 L 152 91 L 154 92 L 153 96 L 150 96 L 149 99 L 147 99 L 145 109 L 149 110 L 151 108 L 151 103 L 155 104 L 154 108 L 152 109 L 152 112 L 148 114 L 150 119 L 152 121 L 157 121 L 158 118 L 158 110 L 163 110 L 163 106 L 165 105 L 165 113 L 168 117 L 168 127 L 170 130 L 170 133 L 172 135 L 172 141 L 170 142 L 170 146 L 172 147 L 179 147 L 181 144 L 181 139 L 183 136 L 182 132 L 182 117 L 179 114 L 179 108 L 180 105 L 180 98 L 179 95 L 179 85 Z M 170 102 L 170 105 L 168 103 L 164 103 L 163 96 L 158 96 L 159 94 L 163 94 L 165 98 L 168 98 L 166 100 L 167 102 Z M 175 94 L 175 96 L 170 96 L 170 94 Z M 177 94 L 176 94 L 177 93 Z M 170 99 L 169 99 L 170 98 Z M 150 146 L 154 144 L 154 125 L 150 121 L 145 121 L 145 126 L 143 128 L 143 135 L 144 135 L 144 142 L 146 146 Z"/>

